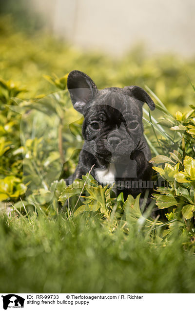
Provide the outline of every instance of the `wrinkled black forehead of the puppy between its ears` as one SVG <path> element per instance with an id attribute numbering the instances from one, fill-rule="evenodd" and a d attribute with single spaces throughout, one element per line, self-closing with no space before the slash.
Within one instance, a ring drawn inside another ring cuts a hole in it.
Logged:
<path id="1" fill-rule="evenodd" d="M 90 114 L 104 112 L 111 115 L 136 115 L 142 118 L 142 104 L 139 100 L 111 90 L 101 90 L 89 109 Z"/>

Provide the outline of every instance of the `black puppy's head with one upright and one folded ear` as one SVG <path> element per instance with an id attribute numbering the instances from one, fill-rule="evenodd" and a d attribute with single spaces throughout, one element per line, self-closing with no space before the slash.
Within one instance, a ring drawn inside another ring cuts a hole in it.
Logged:
<path id="1" fill-rule="evenodd" d="M 105 162 L 121 162 L 137 149 L 143 135 L 142 106 L 155 104 L 137 86 L 98 90 L 81 71 L 71 71 L 67 81 L 74 108 L 84 115 L 82 134 L 87 149 Z"/>

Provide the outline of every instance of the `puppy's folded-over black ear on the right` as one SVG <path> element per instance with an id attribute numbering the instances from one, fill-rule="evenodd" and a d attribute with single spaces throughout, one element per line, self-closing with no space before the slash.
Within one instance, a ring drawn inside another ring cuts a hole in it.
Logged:
<path id="1" fill-rule="evenodd" d="M 155 103 L 144 89 L 137 86 L 124 87 L 124 89 L 129 91 L 129 96 L 137 98 L 138 100 L 148 104 L 151 110 L 155 110 Z"/>

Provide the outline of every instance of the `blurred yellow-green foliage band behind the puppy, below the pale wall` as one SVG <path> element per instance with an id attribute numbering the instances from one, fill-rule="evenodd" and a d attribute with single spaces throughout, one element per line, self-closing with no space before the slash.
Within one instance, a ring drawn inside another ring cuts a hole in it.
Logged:
<path id="1" fill-rule="evenodd" d="M 121 59 L 83 52 L 43 32 L 34 35 L 16 32 L 11 17 L 0 19 L 0 75 L 4 80 L 20 81 L 33 98 L 55 91 L 42 78 L 55 72 L 59 77 L 71 70 L 86 72 L 98 88 L 147 85 L 169 111 L 175 112 L 193 103 L 191 81 L 195 81 L 195 58 L 178 55 L 149 56 L 143 46 L 134 47 Z M 189 79 L 188 79 L 189 77 Z"/>

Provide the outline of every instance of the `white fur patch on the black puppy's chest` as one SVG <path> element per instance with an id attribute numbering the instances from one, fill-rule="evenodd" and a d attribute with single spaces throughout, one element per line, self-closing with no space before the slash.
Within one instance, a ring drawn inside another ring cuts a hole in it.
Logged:
<path id="1" fill-rule="evenodd" d="M 104 185 L 113 184 L 116 176 L 117 171 L 114 163 L 110 163 L 106 169 L 96 170 L 96 179 Z"/>

